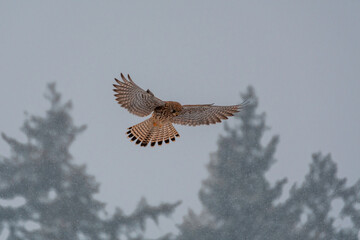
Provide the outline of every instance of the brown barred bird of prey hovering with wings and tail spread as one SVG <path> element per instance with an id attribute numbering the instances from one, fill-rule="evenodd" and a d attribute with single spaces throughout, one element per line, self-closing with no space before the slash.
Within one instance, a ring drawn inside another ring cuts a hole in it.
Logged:
<path id="1" fill-rule="evenodd" d="M 245 102 L 231 106 L 215 106 L 214 104 L 182 105 L 175 101 L 163 101 L 149 90 L 140 88 L 131 79 L 121 73 L 122 81 L 115 78 L 113 84 L 116 101 L 130 113 L 145 117 L 147 120 L 127 129 L 127 136 L 137 145 L 154 147 L 168 144 L 180 137 L 173 124 L 188 126 L 209 125 L 228 119 L 246 105 Z"/>

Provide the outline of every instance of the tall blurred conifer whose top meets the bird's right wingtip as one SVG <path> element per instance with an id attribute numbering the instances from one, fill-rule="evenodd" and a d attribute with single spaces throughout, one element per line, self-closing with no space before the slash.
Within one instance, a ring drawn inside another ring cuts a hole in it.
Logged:
<path id="1" fill-rule="evenodd" d="M 265 115 L 255 112 L 258 101 L 253 88 L 248 88 L 243 99 L 251 99 L 239 115 L 240 125 L 225 125 L 225 136 L 220 136 L 217 152 L 208 165 L 210 176 L 203 182 L 199 197 L 203 213 L 185 218 L 180 226 L 179 239 L 272 239 L 294 220 L 281 219 L 283 207 L 274 202 L 280 197 L 286 179 L 274 186 L 265 173 L 275 162 L 274 152 L 278 136 L 263 146 L 261 138 L 267 129 Z M 276 219 L 276 221 L 273 221 Z M 202 238 L 203 232 L 212 238 Z M 266 238 L 264 238 L 266 237 Z"/>

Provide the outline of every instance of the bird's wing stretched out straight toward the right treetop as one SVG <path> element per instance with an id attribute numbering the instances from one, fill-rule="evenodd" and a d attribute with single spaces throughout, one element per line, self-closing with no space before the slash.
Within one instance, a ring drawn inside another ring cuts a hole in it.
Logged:
<path id="1" fill-rule="evenodd" d="M 242 104 L 233 106 L 183 105 L 182 111 L 172 119 L 172 122 L 189 126 L 215 124 L 221 122 L 222 119 L 233 116 L 242 107 Z"/>

